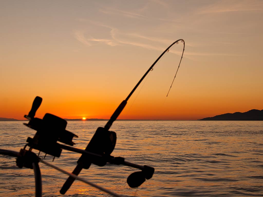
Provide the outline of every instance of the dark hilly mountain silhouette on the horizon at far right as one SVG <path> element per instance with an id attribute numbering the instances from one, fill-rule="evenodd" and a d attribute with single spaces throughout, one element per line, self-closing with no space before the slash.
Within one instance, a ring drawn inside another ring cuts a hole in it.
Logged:
<path id="1" fill-rule="evenodd" d="M 263 120 L 263 110 L 249 110 L 247 112 L 225 113 L 201 120 Z"/>

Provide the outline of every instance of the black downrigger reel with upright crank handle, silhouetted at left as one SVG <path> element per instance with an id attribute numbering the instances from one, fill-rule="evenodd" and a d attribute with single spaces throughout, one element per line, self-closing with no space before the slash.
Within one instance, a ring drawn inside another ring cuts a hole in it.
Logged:
<path id="1" fill-rule="evenodd" d="M 34 116 L 41 102 L 42 98 L 37 96 L 34 99 L 30 112 L 24 116 L 29 120 L 24 125 L 37 131 L 33 138 L 27 138 L 27 146 L 54 157 L 59 157 L 62 149 L 57 141 L 73 146 L 75 143 L 72 142 L 72 139 L 78 136 L 65 130 L 67 121 L 58 116 L 46 113 L 43 119 L 35 118 Z"/>

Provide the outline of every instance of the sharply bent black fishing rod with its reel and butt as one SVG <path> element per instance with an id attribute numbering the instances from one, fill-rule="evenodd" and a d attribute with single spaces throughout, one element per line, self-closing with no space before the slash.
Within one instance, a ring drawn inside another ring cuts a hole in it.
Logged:
<path id="1" fill-rule="evenodd" d="M 89 144 L 86 147 L 86 151 L 91 151 L 91 152 L 96 152 L 99 154 L 105 154 L 105 156 L 110 155 L 115 147 L 116 144 L 116 133 L 109 131 L 109 128 L 112 126 L 112 123 L 118 118 L 118 116 L 120 115 L 120 113 L 122 112 L 122 110 L 124 109 L 124 107 L 127 104 L 127 101 L 129 100 L 129 98 L 131 97 L 131 95 L 133 94 L 133 92 L 137 89 L 137 87 L 140 85 L 140 83 L 143 81 L 143 79 L 145 78 L 145 76 L 151 71 L 153 70 L 154 65 L 159 61 L 159 59 L 167 52 L 169 52 L 169 49 L 174 45 L 174 44 L 178 44 L 178 42 L 181 41 L 184 44 L 185 47 L 185 42 L 183 39 L 179 39 L 176 40 L 174 43 L 172 43 L 166 50 L 164 50 L 164 52 L 155 60 L 155 62 L 150 66 L 150 68 L 145 72 L 145 74 L 143 75 L 143 77 L 141 77 L 141 79 L 139 80 L 139 82 L 135 85 L 135 87 L 133 88 L 133 90 L 131 90 L 130 94 L 127 96 L 127 98 L 125 100 L 123 100 L 120 105 L 117 107 L 117 109 L 114 111 L 113 115 L 110 117 L 110 120 L 106 123 L 106 125 L 103 127 L 99 127 L 97 129 L 97 131 L 95 132 L 94 136 L 92 137 L 92 139 L 90 140 Z M 183 58 L 183 54 L 184 54 L 184 48 L 183 48 L 183 52 L 182 52 L 182 56 L 181 56 L 181 60 Z M 177 71 L 175 73 L 174 79 L 176 77 L 176 74 L 178 72 L 178 69 L 180 67 L 181 64 L 181 60 L 179 63 L 179 66 L 177 68 Z M 174 82 L 174 80 L 173 80 Z M 170 86 L 170 89 L 173 85 L 173 82 Z M 169 91 L 170 91 L 169 89 Z M 168 91 L 168 94 L 169 94 Z M 167 94 L 167 96 L 168 96 Z M 104 136 L 104 138 L 102 139 L 102 136 Z M 107 136 L 107 137 L 106 137 Z M 109 140 L 110 139 L 110 140 Z M 107 141 L 107 142 L 106 142 Z M 103 142 L 108 143 L 109 145 L 106 147 L 103 146 Z M 75 167 L 75 169 L 73 170 L 72 174 L 78 175 L 80 173 L 80 171 L 85 168 L 88 169 L 90 167 L 90 164 L 92 163 L 91 161 L 89 161 L 89 159 L 85 156 L 81 156 L 77 162 L 77 166 Z M 95 163 L 96 164 L 96 163 Z M 154 169 L 153 169 L 154 172 Z M 139 178 L 139 179 L 143 179 L 143 178 Z M 70 186 L 72 185 L 72 183 L 74 182 L 74 177 L 69 177 L 66 182 L 64 183 L 63 187 L 60 190 L 61 194 L 65 194 L 66 191 L 70 188 Z M 129 183 L 128 179 L 127 182 L 128 184 L 135 184 L 133 182 L 136 181 L 136 177 L 133 176 L 133 181 L 131 181 L 132 183 Z M 145 179 L 144 179 L 145 180 Z"/>

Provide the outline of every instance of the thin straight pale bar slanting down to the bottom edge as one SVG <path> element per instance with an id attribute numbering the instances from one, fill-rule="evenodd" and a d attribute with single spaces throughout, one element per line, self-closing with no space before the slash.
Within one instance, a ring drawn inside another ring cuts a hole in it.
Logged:
<path id="1" fill-rule="evenodd" d="M 113 195 L 113 196 L 116 196 L 116 197 L 125 197 L 125 196 L 123 196 L 123 195 L 116 194 L 115 192 L 110 191 L 110 190 L 108 190 L 108 189 L 105 189 L 104 187 L 99 186 L 99 185 L 97 185 L 97 184 L 95 184 L 95 183 L 92 183 L 92 182 L 90 182 L 90 181 L 88 181 L 88 180 L 85 180 L 85 179 L 83 179 L 83 178 L 80 178 L 79 176 L 77 176 L 77 175 L 75 175 L 75 174 L 73 174 L 73 173 L 69 173 L 69 172 L 67 172 L 67 171 L 65 171 L 65 170 L 62 170 L 61 168 L 58 168 L 58 167 L 56 167 L 56 166 L 54 166 L 54 165 L 52 165 L 52 164 L 50 164 L 50 163 L 48 163 L 48 162 L 45 162 L 45 161 L 42 160 L 42 159 L 39 159 L 39 161 L 42 162 L 42 163 L 44 163 L 44 164 L 46 164 L 46 165 L 48 165 L 48 166 L 51 167 L 51 168 L 54 168 L 54 169 L 56 169 L 56 170 L 58 170 L 58 171 L 60 171 L 60 172 L 62 172 L 62 173 L 64 173 L 64 174 L 67 174 L 67 175 L 69 175 L 70 177 L 73 177 L 73 178 L 75 178 L 75 179 L 78 179 L 78 180 L 80 180 L 80 181 L 82 181 L 82 182 L 84 182 L 84 183 L 87 183 L 88 185 L 91 185 L 91 186 L 93 186 L 93 187 L 95 187 L 95 188 L 97 188 L 97 189 L 99 189 L 99 190 L 102 190 L 102 191 L 104 191 L 104 192 L 106 192 L 106 193 L 108 193 L 108 194 L 110 194 L 110 195 Z"/>

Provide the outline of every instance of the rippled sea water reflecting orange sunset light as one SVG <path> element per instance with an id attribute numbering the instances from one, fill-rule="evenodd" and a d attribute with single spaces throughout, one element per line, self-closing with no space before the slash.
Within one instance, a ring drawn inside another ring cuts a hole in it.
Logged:
<path id="1" fill-rule="evenodd" d="M 19 151 L 35 131 L 22 121 L 0 122 L 1 149 Z M 85 148 L 104 121 L 69 121 L 67 130 L 79 136 L 74 147 Z M 107 164 L 91 165 L 79 174 L 123 196 L 263 196 L 263 121 L 115 121 L 113 156 L 155 168 L 153 177 L 129 188 L 127 177 L 137 170 Z M 37 151 L 36 151 L 37 153 Z M 44 157 L 44 153 L 40 154 Z M 80 157 L 62 151 L 45 158 L 72 172 Z M 110 196 L 75 180 L 59 193 L 67 175 L 43 163 L 43 196 Z M 18 168 L 14 157 L 0 155 L 0 196 L 34 196 L 32 169 Z"/>

